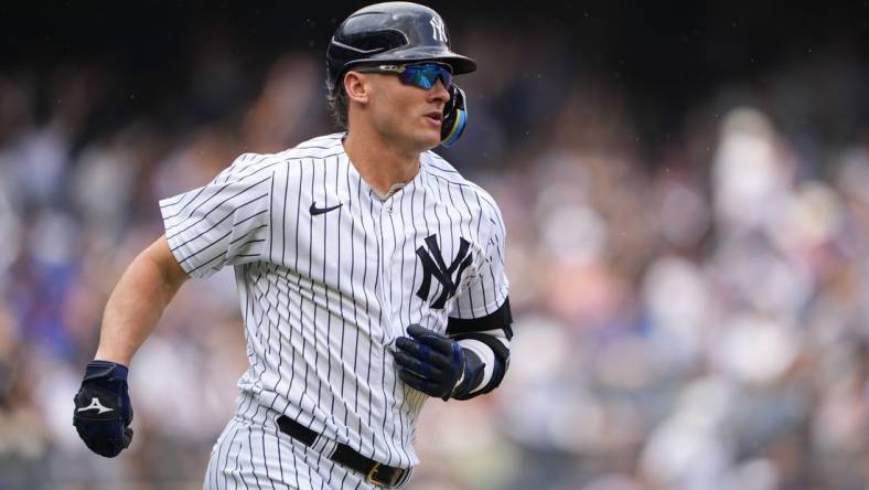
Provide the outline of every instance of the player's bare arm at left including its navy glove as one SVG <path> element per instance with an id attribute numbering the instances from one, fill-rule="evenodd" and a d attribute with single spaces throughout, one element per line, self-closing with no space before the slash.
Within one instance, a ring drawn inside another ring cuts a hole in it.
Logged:
<path id="1" fill-rule="evenodd" d="M 73 398 L 73 425 L 94 452 L 111 458 L 130 445 L 127 366 L 186 278 L 163 236 L 132 260 L 111 292 L 95 360 Z"/>

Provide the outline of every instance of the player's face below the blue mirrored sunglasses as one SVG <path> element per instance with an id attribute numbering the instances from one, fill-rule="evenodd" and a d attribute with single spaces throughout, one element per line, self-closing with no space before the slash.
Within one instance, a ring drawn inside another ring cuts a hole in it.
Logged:
<path id="1" fill-rule="evenodd" d="M 403 83 L 394 74 L 372 74 L 372 126 L 386 139 L 412 151 L 427 151 L 441 140 L 443 106 L 450 98 L 437 78 L 430 88 Z"/>

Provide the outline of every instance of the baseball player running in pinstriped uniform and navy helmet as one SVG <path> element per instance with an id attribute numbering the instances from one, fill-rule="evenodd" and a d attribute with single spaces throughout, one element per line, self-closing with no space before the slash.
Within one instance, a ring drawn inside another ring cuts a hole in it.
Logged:
<path id="1" fill-rule="evenodd" d="M 425 402 L 491 392 L 509 365 L 501 212 L 430 151 L 461 136 L 453 76 L 475 67 L 423 6 L 341 23 L 326 82 L 345 131 L 242 155 L 160 201 L 165 235 L 110 296 L 75 395 L 85 444 L 106 457 L 129 446 L 133 353 L 189 277 L 232 265 L 249 368 L 204 488 L 405 484 Z"/>

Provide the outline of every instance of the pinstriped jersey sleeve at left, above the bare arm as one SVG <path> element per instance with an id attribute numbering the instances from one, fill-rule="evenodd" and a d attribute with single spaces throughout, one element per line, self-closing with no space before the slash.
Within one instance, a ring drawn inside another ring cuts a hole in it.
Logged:
<path id="1" fill-rule="evenodd" d="M 169 248 L 189 276 L 267 254 L 273 170 L 258 157 L 243 155 L 210 183 L 160 201 Z"/>

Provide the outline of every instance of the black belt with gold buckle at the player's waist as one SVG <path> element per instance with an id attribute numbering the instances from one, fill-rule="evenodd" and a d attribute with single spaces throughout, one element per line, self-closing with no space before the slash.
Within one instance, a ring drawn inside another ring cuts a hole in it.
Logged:
<path id="1" fill-rule="evenodd" d="M 315 432 L 309 429 L 308 427 L 299 424 L 286 415 L 278 417 L 278 428 L 280 428 L 280 432 L 283 434 L 287 434 L 288 436 L 304 444 L 308 447 L 313 446 L 317 438 L 320 437 L 320 435 Z M 366 458 L 365 456 L 354 451 L 345 444 L 336 444 L 337 447 L 335 448 L 335 451 L 332 452 L 332 456 L 329 458 L 339 465 L 343 465 L 350 469 L 358 471 L 362 475 L 365 475 L 365 481 L 368 483 L 376 484 L 378 487 L 395 487 L 397 484 L 404 483 L 405 479 L 410 472 L 404 468 L 394 468 L 391 466 L 386 466 L 382 462 Z"/>

